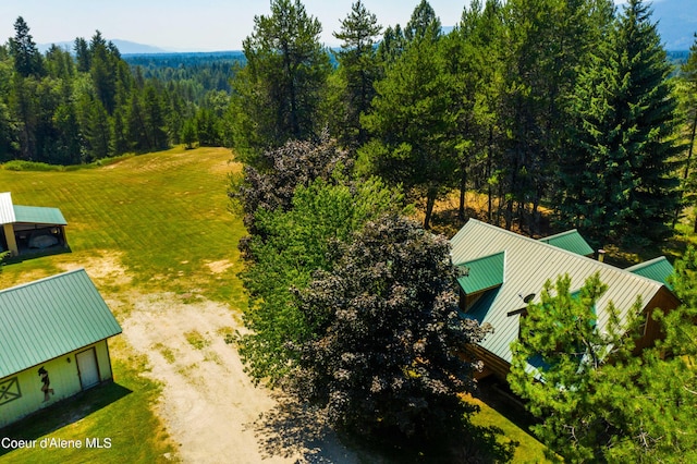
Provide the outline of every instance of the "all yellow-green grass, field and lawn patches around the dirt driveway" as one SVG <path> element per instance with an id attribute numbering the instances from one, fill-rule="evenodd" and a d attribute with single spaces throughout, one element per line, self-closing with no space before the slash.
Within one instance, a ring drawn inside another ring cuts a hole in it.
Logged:
<path id="1" fill-rule="evenodd" d="M 64 172 L 0 169 L 0 192 L 12 192 L 17 205 L 59 207 L 66 218 L 71 253 L 4 266 L 0 289 L 85 266 L 118 319 L 130 312 L 130 292 L 173 292 L 184 301 L 211 300 L 242 309 L 246 305 L 236 244 L 245 233 L 228 210 L 230 150 L 198 148 L 127 157 L 114 164 Z M 114 302 L 117 304 L 114 304 Z M 187 334 L 193 345 L 196 333 Z M 85 394 L 57 410 L 51 424 L 37 419 L 13 431 L 33 438 L 112 437 L 113 450 L 61 450 L 48 456 L 37 451 L 0 455 L 7 462 L 158 462 L 176 460 L 175 443 L 152 411 L 160 386 L 139 376 L 147 361 L 121 337 L 110 342 L 118 388 L 101 403 Z M 108 401 L 107 401 L 108 400 Z M 101 401 L 101 400 L 100 400 Z M 103 403 L 103 404 L 102 404 Z M 71 407 L 88 411 L 61 426 Z M 482 404 L 479 425 L 504 430 L 504 440 L 519 443 L 516 462 L 543 461 L 542 447 L 502 415 Z M 117 448 L 114 445 L 114 448 Z"/>

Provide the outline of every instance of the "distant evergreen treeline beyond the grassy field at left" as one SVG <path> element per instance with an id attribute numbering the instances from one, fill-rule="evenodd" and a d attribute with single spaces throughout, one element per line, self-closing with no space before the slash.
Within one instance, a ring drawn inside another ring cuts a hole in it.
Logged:
<path id="1" fill-rule="evenodd" d="M 0 46 L 0 161 L 76 164 L 225 144 L 229 93 L 215 90 L 219 83 L 146 77 L 99 32 L 76 38 L 73 53 L 53 46 L 41 54 L 22 17 L 14 28 Z"/>

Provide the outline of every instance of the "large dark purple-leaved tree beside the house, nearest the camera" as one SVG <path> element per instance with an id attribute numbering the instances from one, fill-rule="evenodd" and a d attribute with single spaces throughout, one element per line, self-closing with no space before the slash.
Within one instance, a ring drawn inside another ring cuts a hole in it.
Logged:
<path id="1" fill-rule="evenodd" d="M 462 430 L 474 389 L 458 349 L 485 331 L 457 316 L 450 245 L 413 220 L 370 221 L 299 292 L 316 327 L 295 373 L 331 424 L 374 439 L 432 442 Z"/>

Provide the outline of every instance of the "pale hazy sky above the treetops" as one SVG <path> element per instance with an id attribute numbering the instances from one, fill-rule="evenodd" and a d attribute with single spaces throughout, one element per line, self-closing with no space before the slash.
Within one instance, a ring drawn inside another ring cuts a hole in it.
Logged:
<path id="1" fill-rule="evenodd" d="M 339 21 L 351 11 L 353 1 L 303 1 L 307 12 L 322 23 L 326 45 L 338 44 L 331 33 L 339 29 Z M 364 0 L 383 26 L 406 24 L 418 2 Z M 688 5 L 693 2 L 697 0 L 655 0 L 655 5 L 681 3 L 692 10 Z M 429 0 L 429 3 L 442 24 L 450 26 L 460 20 L 469 0 Z M 253 30 L 254 16 L 269 14 L 269 4 L 268 0 L 0 0 L 0 41 L 14 36 L 14 21 L 23 16 L 37 44 L 72 41 L 75 37 L 88 39 L 99 29 L 108 39 L 168 50 L 239 50 Z M 690 14 L 697 17 L 697 13 Z M 686 34 L 692 37 L 692 30 Z"/>

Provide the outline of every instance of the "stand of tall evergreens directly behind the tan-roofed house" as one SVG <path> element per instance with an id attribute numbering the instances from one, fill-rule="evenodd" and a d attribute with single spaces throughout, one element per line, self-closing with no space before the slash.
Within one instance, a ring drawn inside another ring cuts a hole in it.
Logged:
<path id="1" fill-rule="evenodd" d="M 282 14 L 296 17 L 285 24 Z M 235 149 L 247 162 L 329 129 L 358 170 L 401 184 L 429 225 L 453 188 L 485 194 L 487 220 L 528 233 L 541 210 L 595 245 L 671 233 L 689 138 L 651 11 L 610 0 L 475 0 L 444 35 L 428 2 L 382 28 L 356 2 L 334 36 L 298 1 L 274 1 L 233 81 Z M 689 141 L 692 142 L 692 141 Z"/>

